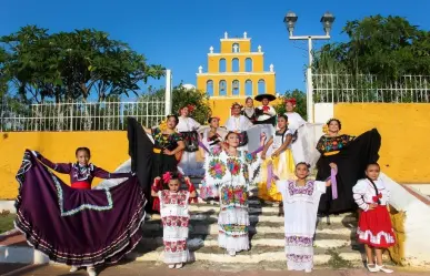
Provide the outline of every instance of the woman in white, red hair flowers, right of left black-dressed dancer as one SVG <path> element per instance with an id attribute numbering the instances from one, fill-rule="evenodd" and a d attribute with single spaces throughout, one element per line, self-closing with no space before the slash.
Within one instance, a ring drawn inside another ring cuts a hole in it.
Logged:
<path id="1" fill-rule="evenodd" d="M 178 167 L 184 175 L 189 176 L 204 174 L 202 163 L 197 162 L 196 156 L 196 153 L 199 151 L 199 134 L 197 130 L 200 127 L 200 124 L 188 116 L 192 111 L 192 105 L 183 106 L 180 110 L 181 115 L 179 116 L 179 123 L 177 125 L 177 131 L 181 133 L 183 142 L 186 143 L 186 149 Z"/>

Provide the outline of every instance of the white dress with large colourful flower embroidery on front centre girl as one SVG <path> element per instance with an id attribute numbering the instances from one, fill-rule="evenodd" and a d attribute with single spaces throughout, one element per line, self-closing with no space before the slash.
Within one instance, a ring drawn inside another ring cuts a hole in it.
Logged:
<path id="1" fill-rule="evenodd" d="M 218 150 L 206 157 L 206 184 L 218 188 L 220 201 L 218 244 L 229 252 L 249 249 L 248 164 L 254 161 L 254 154 L 244 151 L 230 156 Z"/>

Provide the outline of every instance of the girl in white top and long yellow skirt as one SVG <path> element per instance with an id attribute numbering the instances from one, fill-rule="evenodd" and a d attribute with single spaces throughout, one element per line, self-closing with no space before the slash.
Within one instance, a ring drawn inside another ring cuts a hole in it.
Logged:
<path id="1" fill-rule="evenodd" d="M 263 201 L 281 202 L 282 195 L 274 185 L 273 175 L 280 180 L 291 178 L 294 174 L 294 160 L 291 154 L 292 132 L 288 130 L 287 115 L 278 116 L 279 130 L 268 141 L 261 153 L 261 180 L 258 196 Z M 282 213 L 282 212 L 280 212 Z"/>

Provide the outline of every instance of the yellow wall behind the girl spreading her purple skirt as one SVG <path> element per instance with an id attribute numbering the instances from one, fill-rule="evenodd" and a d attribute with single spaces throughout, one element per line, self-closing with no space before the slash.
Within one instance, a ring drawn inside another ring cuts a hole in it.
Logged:
<path id="1" fill-rule="evenodd" d="M 74 150 L 88 146 L 91 162 L 114 171 L 128 156 L 127 132 L 0 132 L 0 200 L 11 200 L 18 194 L 14 178 L 26 149 L 39 151 L 52 162 L 74 162 Z M 69 177 L 59 175 L 67 184 Z M 96 180 L 93 184 L 99 183 Z"/>

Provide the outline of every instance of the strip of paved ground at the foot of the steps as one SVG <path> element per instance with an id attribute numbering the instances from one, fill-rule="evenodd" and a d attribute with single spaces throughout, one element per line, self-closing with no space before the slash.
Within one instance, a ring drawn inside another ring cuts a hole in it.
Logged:
<path id="1" fill-rule="evenodd" d="M 9 269 L 8 269 L 9 268 Z M 18 269 L 17 269 L 18 268 Z M 9 272 L 8 272 L 9 270 Z M 12 272 L 14 270 L 14 272 Z M 84 276 L 88 275 L 84 269 L 81 269 L 77 273 L 69 273 L 69 267 L 67 266 L 27 266 L 19 268 L 16 265 L 0 265 L 0 275 L 4 276 Z M 150 264 L 133 262 L 124 265 L 107 267 L 102 270 L 99 270 L 99 276 L 296 276 L 304 275 L 304 273 L 298 272 L 288 272 L 288 270 L 243 270 L 243 272 L 223 272 L 223 270 L 213 270 L 208 267 L 208 269 L 188 266 L 182 269 L 169 269 L 166 266 L 151 266 Z M 364 276 L 364 275 L 383 275 L 383 274 L 370 274 L 366 269 L 340 269 L 333 270 L 330 268 L 327 269 L 316 269 L 311 274 L 306 275 L 318 275 L 318 276 Z M 424 276 L 429 275 L 429 272 L 408 272 L 403 269 L 396 269 L 396 276 Z"/>

